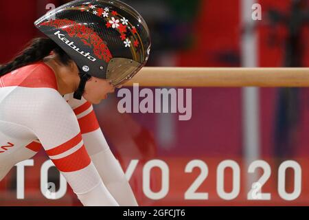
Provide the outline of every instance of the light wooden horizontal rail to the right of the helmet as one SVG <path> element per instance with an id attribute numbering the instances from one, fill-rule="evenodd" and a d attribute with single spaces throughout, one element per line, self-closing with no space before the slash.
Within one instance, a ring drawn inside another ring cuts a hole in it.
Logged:
<path id="1" fill-rule="evenodd" d="M 124 86 L 309 87 L 309 68 L 144 67 Z"/>

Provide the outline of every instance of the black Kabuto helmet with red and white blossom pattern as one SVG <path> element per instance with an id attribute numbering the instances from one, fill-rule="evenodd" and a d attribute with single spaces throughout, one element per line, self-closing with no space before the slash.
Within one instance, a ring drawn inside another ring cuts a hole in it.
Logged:
<path id="1" fill-rule="evenodd" d="M 111 80 L 113 86 L 123 84 L 146 65 L 150 54 L 146 21 L 122 1 L 71 1 L 34 25 L 78 65 L 78 99 L 91 76 Z"/>

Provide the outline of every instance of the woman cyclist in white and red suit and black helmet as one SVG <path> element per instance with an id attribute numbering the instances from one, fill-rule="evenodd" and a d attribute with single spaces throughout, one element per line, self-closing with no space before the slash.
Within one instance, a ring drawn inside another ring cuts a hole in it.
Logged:
<path id="1" fill-rule="evenodd" d="M 35 25 L 47 38 L 0 67 L 0 181 L 43 147 L 84 206 L 137 206 L 91 104 L 144 67 L 146 22 L 121 1 L 78 0 Z"/>

